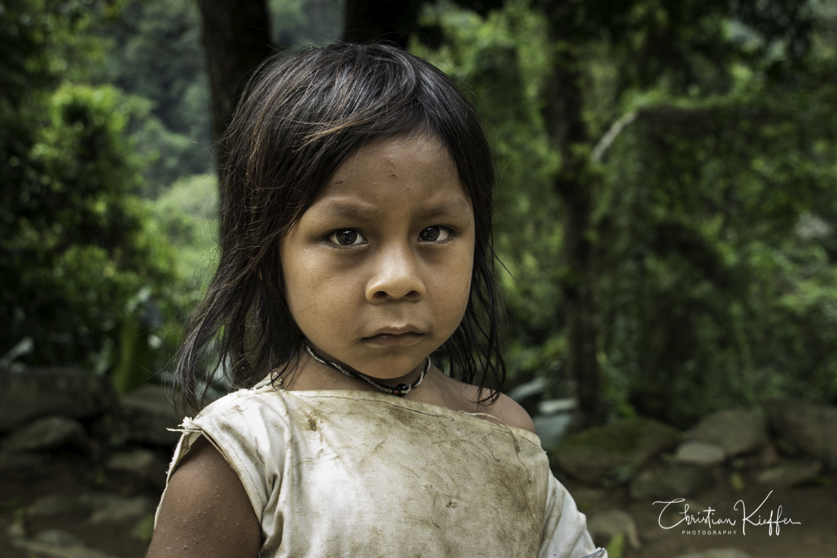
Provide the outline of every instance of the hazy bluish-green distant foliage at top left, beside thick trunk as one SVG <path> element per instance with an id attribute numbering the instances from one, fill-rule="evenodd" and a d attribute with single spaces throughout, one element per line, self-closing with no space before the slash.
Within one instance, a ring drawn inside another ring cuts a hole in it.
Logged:
<path id="1" fill-rule="evenodd" d="M 112 84 L 144 100 L 131 122 L 136 153 L 146 158 L 142 192 L 156 197 L 177 178 L 213 168 L 209 90 L 200 15 L 188 0 L 133 0 L 100 18 L 81 37 L 96 42 L 97 64 L 80 80 Z M 106 52 L 106 55 L 101 54 Z"/>

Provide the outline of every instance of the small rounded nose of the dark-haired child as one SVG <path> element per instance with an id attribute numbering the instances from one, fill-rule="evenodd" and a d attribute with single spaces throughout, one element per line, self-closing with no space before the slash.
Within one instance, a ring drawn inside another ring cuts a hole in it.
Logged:
<path id="1" fill-rule="evenodd" d="M 366 297 L 373 304 L 393 299 L 418 300 L 424 296 L 416 254 L 408 246 L 383 247 L 373 261 Z"/>

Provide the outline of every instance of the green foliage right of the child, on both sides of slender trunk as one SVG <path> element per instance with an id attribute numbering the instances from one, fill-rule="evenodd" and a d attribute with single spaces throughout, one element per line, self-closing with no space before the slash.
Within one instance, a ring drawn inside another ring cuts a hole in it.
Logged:
<path id="1" fill-rule="evenodd" d="M 589 130 L 637 115 L 590 168 L 611 416 L 687 426 L 765 397 L 837 398 L 835 5 L 762 4 L 567 3 L 581 12 L 552 21 L 521 0 L 487 18 L 425 11 L 445 37 L 429 58 L 470 85 L 496 142 L 513 381 L 565 385 L 557 285 L 573 278 L 540 110 L 551 53 L 573 48 Z M 550 44 L 549 25 L 574 42 Z"/>

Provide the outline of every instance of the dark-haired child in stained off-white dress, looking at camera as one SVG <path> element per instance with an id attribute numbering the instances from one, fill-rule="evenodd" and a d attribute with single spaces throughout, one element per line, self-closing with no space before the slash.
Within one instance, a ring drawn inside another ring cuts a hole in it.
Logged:
<path id="1" fill-rule="evenodd" d="M 494 174 L 450 80 L 383 45 L 276 59 L 223 147 L 177 377 L 194 405 L 217 342 L 242 389 L 184 420 L 149 556 L 605 556 L 499 392 Z"/>

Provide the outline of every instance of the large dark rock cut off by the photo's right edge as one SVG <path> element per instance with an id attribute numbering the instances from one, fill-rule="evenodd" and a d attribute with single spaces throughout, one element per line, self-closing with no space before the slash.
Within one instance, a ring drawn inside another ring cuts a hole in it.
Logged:
<path id="1" fill-rule="evenodd" d="M 837 407 L 802 399 L 774 399 L 765 407 L 778 438 L 837 468 Z"/>

